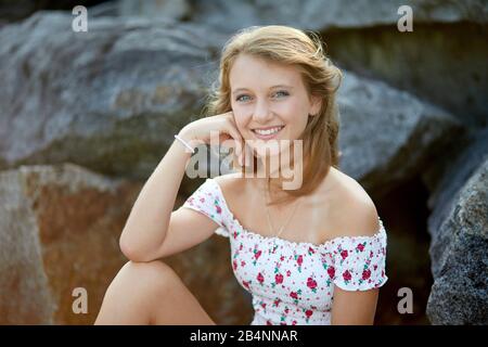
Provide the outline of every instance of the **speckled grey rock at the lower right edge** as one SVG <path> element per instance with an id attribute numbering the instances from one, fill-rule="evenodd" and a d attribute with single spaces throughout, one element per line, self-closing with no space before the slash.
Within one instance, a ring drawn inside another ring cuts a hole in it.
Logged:
<path id="1" fill-rule="evenodd" d="M 434 324 L 488 324 L 488 131 L 446 170 L 429 200 Z"/>

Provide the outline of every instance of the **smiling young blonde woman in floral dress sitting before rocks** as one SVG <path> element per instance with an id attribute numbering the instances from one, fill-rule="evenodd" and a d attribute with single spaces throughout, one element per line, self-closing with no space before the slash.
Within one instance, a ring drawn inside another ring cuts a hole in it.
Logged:
<path id="1" fill-rule="evenodd" d="M 235 278 L 253 295 L 251 324 L 374 322 L 386 232 L 367 192 L 338 169 L 342 75 L 310 34 L 251 27 L 227 42 L 208 107 L 215 116 L 187 125 L 143 187 L 120 237 L 130 261 L 97 324 L 215 324 L 158 260 L 214 232 L 229 237 Z M 215 133 L 235 141 L 242 170 L 207 179 L 172 211 L 190 150 Z M 270 141 L 278 150 L 262 151 Z M 301 180 L 286 190 L 286 160 L 266 163 L 294 147 L 282 145 L 290 141 L 303 146 L 290 162 Z"/>

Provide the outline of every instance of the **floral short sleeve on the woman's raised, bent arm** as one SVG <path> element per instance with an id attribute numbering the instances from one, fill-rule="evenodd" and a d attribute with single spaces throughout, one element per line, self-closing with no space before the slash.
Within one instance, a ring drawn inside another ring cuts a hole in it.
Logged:
<path id="1" fill-rule="evenodd" d="M 219 228 L 215 231 L 217 234 L 229 237 L 227 205 L 220 188 L 215 180 L 207 179 L 187 198 L 182 207 L 204 214 L 219 224 Z"/>

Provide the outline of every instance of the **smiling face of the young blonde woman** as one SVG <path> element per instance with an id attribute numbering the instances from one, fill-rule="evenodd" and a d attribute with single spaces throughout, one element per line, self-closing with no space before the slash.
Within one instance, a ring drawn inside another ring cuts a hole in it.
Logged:
<path id="1" fill-rule="evenodd" d="M 297 140 L 308 115 L 320 111 L 320 99 L 310 102 L 300 73 L 293 66 L 240 54 L 229 79 L 235 124 L 258 155 L 270 141 L 277 140 L 283 149 L 280 140 Z"/>

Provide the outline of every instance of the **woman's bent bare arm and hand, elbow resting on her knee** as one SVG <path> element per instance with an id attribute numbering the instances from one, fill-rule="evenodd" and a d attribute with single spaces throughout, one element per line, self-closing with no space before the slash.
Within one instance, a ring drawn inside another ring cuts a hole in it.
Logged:
<path id="1" fill-rule="evenodd" d="M 232 113 L 193 121 L 179 136 L 195 146 L 208 143 L 211 131 L 242 143 Z M 218 227 L 197 211 L 172 211 L 190 157 L 184 145 L 175 140 L 143 185 L 119 240 L 121 252 L 130 260 L 151 261 L 184 250 L 208 239 Z"/>

